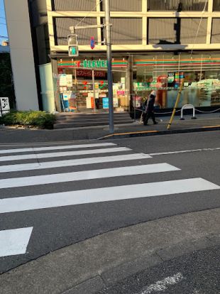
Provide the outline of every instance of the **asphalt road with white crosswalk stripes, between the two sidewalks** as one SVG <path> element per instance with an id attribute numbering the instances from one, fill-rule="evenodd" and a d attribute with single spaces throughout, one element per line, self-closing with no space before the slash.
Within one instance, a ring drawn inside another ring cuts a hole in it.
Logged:
<path id="1" fill-rule="evenodd" d="M 220 207 L 219 131 L 0 146 L 0 273 L 109 230 Z"/>

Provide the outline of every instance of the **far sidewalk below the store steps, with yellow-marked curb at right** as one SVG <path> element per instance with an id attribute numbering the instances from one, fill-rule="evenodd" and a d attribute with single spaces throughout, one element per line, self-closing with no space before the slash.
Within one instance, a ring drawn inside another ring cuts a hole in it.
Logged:
<path id="1" fill-rule="evenodd" d="M 38 130 L 38 129 L 14 129 L 0 127 L 0 143 L 38 143 L 55 141 L 73 141 L 89 139 L 111 139 L 126 138 L 132 136 L 153 136 L 160 134 L 177 134 L 194 131 L 214 131 L 220 129 L 220 114 L 198 114 L 197 119 L 185 116 L 180 121 L 180 116 L 175 116 L 171 128 L 167 131 L 170 116 L 158 117 L 159 124 L 153 125 L 149 121 L 148 126 L 143 126 L 140 121 L 132 124 L 121 124 L 115 126 L 114 134 L 109 136 L 108 126 L 93 126 L 75 129 Z"/>

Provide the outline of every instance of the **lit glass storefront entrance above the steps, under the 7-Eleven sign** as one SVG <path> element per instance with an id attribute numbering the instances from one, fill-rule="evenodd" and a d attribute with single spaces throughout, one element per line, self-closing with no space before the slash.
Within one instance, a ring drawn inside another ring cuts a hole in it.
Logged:
<path id="1" fill-rule="evenodd" d="M 63 64 L 63 62 L 62 62 Z M 64 112 L 109 112 L 106 68 L 58 67 L 60 101 Z M 128 111 L 126 69 L 113 69 L 114 111 Z"/>

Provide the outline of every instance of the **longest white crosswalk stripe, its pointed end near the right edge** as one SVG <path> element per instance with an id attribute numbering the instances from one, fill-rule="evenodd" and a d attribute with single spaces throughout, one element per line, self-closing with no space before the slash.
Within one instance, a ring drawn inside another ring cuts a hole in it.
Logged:
<path id="1" fill-rule="evenodd" d="M 126 200 L 186 192 L 216 190 L 220 187 L 202 178 L 170 180 L 166 182 L 104 187 L 91 190 L 68 191 L 26 197 L 0 199 L 0 213 L 31 209 L 81 205 L 94 202 Z"/>

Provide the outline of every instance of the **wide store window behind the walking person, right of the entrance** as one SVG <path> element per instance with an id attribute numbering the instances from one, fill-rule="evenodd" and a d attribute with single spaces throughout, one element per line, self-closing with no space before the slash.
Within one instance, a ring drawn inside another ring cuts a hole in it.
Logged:
<path id="1" fill-rule="evenodd" d="M 220 105 L 220 55 L 139 56 L 133 62 L 133 91 L 144 102 L 153 89 L 158 109 L 174 107 L 184 83 L 180 103 L 194 107 Z"/>

